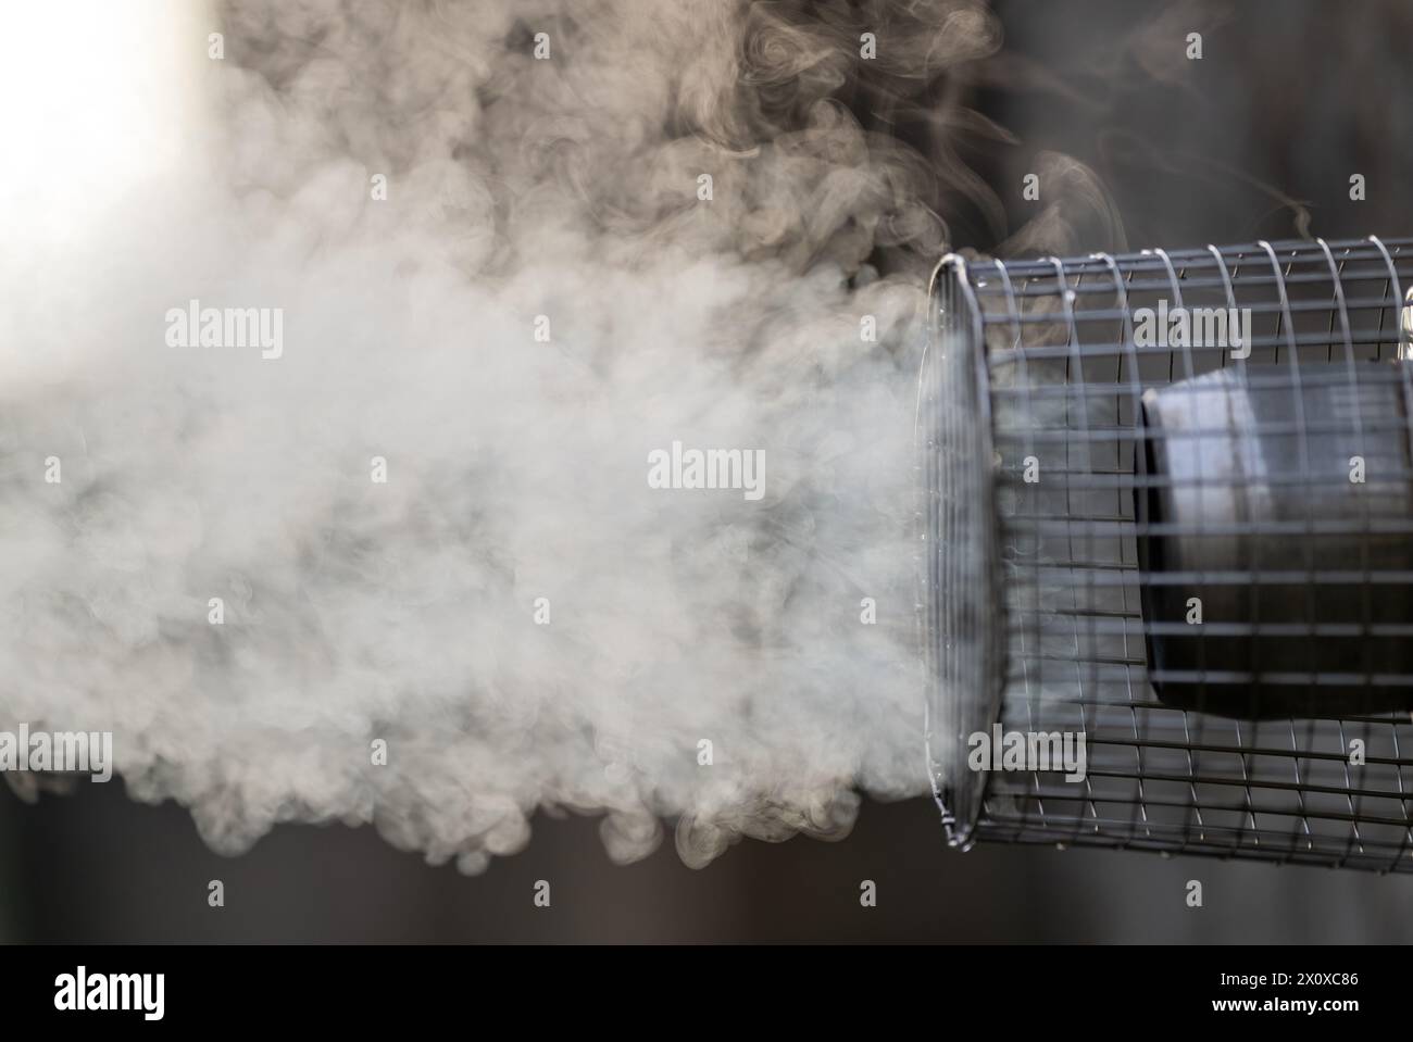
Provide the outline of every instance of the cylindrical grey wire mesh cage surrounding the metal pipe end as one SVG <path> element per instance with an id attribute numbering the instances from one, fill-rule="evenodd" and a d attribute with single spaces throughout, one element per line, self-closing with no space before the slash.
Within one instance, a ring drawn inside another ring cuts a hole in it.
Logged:
<path id="1" fill-rule="evenodd" d="M 952 844 L 1413 870 L 1410 287 L 1413 240 L 1372 237 L 941 263 L 918 616 Z M 1036 758 L 1071 737 L 1082 771 Z"/>

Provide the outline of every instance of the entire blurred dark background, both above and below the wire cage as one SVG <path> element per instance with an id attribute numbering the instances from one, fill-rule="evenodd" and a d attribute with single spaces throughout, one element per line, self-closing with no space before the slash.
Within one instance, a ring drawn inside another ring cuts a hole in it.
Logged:
<path id="1" fill-rule="evenodd" d="M 1012 0 L 995 10 L 1000 55 L 927 88 L 961 92 L 1013 136 L 945 137 L 995 192 L 992 206 L 944 199 L 955 246 L 1413 233 L 1413 4 Z M 1202 34 L 1200 62 L 1186 58 L 1188 32 Z M 1091 168 L 1112 208 L 1075 202 L 1088 182 L 1047 178 L 1064 167 L 1046 168 L 1046 152 Z M 1027 172 L 1043 175 L 1039 203 L 1020 198 Z M 1354 174 L 1365 176 L 1364 202 L 1349 199 Z M 1041 222 L 1015 239 L 1057 196 L 1068 202 L 1048 230 Z M 216 878 L 222 909 L 206 904 Z M 1194 878 L 1200 909 L 1184 901 Z M 551 884 L 548 909 L 533 905 L 537 880 Z M 876 908 L 861 906 L 862 880 L 876 882 Z M 280 826 L 222 858 L 182 808 L 133 803 L 122 782 L 32 806 L 0 786 L 0 939 L 1397 942 L 1413 939 L 1413 878 L 1122 851 L 962 854 L 944 847 L 927 799 L 866 803 L 841 843 L 746 842 L 702 871 L 685 868 L 670 840 L 615 867 L 595 819 L 540 815 L 526 851 L 468 878 L 372 829 Z"/>

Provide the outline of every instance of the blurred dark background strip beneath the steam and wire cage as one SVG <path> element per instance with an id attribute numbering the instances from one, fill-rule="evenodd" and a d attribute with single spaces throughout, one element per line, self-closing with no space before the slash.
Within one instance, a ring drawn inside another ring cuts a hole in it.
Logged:
<path id="1" fill-rule="evenodd" d="M 280 826 L 206 850 L 188 813 L 122 786 L 0 801 L 4 936 L 42 940 L 1112 940 L 1400 942 L 1413 880 L 1153 854 L 942 844 L 930 801 L 866 803 L 841 843 L 746 842 L 708 868 L 671 843 L 626 868 L 592 819 L 534 822 L 485 875 L 427 867 L 372 829 Z M 206 905 L 219 878 L 226 906 Z M 1187 908 L 1201 880 L 1204 906 Z M 533 905 L 534 884 L 551 906 Z M 859 882 L 877 906 L 859 905 Z"/>

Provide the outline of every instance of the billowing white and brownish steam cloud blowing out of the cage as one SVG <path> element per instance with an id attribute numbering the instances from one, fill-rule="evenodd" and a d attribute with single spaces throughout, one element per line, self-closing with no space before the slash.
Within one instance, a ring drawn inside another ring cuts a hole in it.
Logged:
<path id="1" fill-rule="evenodd" d="M 181 150 L 3 261 L 0 726 L 112 730 L 222 851 L 372 822 L 463 871 L 537 808 L 704 864 L 924 791 L 916 346 L 934 202 L 983 192 L 841 99 L 1000 35 L 797 7 L 242 0 L 131 42 L 196 55 Z M 281 309 L 280 357 L 170 346 L 191 301 Z M 673 442 L 763 450 L 763 496 L 650 487 Z"/>

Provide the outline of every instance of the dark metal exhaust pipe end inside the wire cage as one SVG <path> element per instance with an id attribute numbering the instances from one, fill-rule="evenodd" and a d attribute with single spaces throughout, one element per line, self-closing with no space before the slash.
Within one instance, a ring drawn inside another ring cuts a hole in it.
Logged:
<path id="1" fill-rule="evenodd" d="M 1413 707 L 1409 364 L 1222 369 L 1143 395 L 1149 679 L 1170 705 Z"/>

